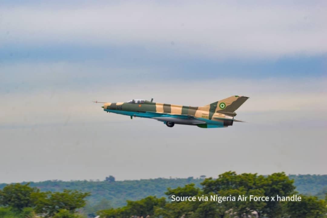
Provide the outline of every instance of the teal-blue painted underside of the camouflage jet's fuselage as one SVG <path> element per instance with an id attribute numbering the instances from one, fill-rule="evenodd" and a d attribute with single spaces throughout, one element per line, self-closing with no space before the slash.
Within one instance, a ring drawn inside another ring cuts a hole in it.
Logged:
<path id="1" fill-rule="evenodd" d="M 170 115 L 170 114 L 163 114 L 163 113 L 155 113 L 155 112 L 135 112 L 135 111 L 124 111 L 124 110 L 111 110 L 111 109 L 104 109 L 104 111 L 133 116 L 133 117 L 143 117 L 143 118 L 153 118 L 153 117 L 173 117 L 173 118 L 181 118 L 181 119 L 188 119 L 187 115 Z M 201 128 L 221 128 L 226 127 L 224 126 L 223 122 L 209 120 L 205 118 L 196 118 L 197 120 L 201 120 L 205 122 L 205 124 L 199 124 L 198 127 Z"/>

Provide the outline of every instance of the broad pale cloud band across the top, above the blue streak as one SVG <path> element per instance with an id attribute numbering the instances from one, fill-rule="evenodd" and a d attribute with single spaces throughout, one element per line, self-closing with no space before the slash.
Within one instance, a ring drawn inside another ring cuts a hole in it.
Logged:
<path id="1" fill-rule="evenodd" d="M 139 45 L 154 53 L 208 58 L 327 52 L 324 2 L 8 5 L 1 11 L 0 45 Z"/>

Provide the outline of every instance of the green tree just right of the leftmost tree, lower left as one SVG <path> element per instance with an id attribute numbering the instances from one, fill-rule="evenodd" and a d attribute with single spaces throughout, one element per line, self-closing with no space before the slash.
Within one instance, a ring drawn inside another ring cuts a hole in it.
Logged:
<path id="1" fill-rule="evenodd" d="M 36 196 L 35 211 L 51 217 L 59 210 L 65 209 L 70 213 L 76 212 L 76 209 L 85 206 L 85 199 L 90 193 L 82 193 L 77 190 L 63 190 L 63 192 L 44 192 Z"/>

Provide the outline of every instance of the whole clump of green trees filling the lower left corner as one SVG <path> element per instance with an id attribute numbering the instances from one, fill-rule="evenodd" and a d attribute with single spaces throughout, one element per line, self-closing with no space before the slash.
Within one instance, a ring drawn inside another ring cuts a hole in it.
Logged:
<path id="1" fill-rule="evenodd" d="M 63 190 L 41 192 L 29 184 L 10 184 L 0 190 L 1 218 L 82 218 L 77 209 L 86 204 L 90 193 Z"/>

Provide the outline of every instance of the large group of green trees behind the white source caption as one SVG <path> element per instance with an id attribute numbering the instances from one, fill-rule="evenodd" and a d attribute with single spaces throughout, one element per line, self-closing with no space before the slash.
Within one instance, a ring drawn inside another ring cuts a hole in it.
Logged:
<path id="1" fill-rule="evenodd" d="M 188 184 L 168 188 L 168 199 L 187 196 L 290 196 L 296 194 L 294 181 L 284 173 L 269 176 L 226 172 L 217 179 L 207 178 L 202 188 Z M 160 218 L 319 218 L 326 217 L 326 200 L 300 195 L 301 201 L 169 201 L 164 197 L 148 196 L 138 201 L 127 201 L 122 208 L 101 210 L 101 218 L 160 217 Z"/>

